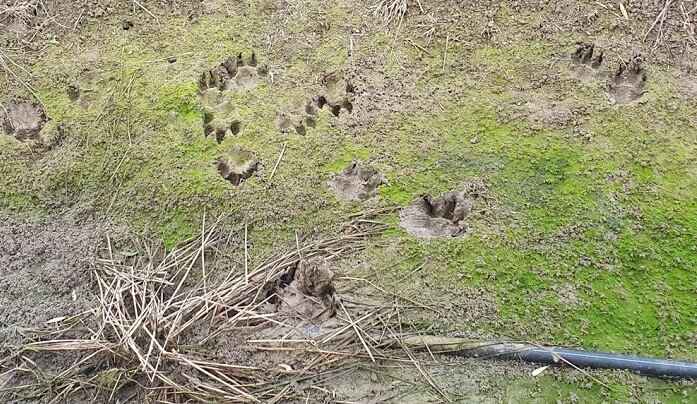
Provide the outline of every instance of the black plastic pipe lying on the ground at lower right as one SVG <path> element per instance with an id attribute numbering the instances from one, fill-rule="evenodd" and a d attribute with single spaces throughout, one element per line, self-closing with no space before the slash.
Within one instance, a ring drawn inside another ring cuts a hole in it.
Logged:
<path id="1" fill-rule="evenodd" d="M 519 359 L 546 365 L 572 365 L 580 369 L 618 369 L 661 378 L 697 379 L 697 362 L 617 355 L 523 343 L 481 345 L 452 353 L 479 358 Z"/>

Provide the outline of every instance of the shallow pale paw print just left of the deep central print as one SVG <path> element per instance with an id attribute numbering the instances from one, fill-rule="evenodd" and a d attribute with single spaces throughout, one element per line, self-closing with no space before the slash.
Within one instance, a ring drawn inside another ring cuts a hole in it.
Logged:
<path id="1" fill-rule="evenodd" d="M 329 188 L 344 201 L 363 201 L 375 196 L 387 178 L 375 168 L 362 162 L 349 164 L 329 181 Z"/>

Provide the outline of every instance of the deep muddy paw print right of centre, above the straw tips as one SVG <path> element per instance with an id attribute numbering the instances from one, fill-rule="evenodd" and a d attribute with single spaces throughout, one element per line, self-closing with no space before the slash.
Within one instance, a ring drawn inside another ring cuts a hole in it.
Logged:
<path id="1" fill-rule="evenodd" d="M 400 225 L 409 234 L 423 238 L 458 237 L 467 232 L 465 220 L 486 192 L 484 184 L 470 184 L 464 191 L 439 197 L 422 196 L 400 213 Z"/>

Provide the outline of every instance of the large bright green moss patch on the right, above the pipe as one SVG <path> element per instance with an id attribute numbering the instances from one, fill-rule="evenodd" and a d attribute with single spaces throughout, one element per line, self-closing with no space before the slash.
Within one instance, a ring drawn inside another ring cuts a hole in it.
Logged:
<path id="1" fill-rule="evenodd" d="M 466 119 L 453 120 L 453 116 Z M 468 287 L 479 284 L 498 296 L 500 313 L 511 326 L 492 331 L 510 335 L 526 330 L 528 334 L 521 337 L 549 338 L 533 330 L 535 324 L 540 330 L 549 329 L 542 323 L 551 314 L 555 343 L 665 355 L 667 346 L 673 345 L 674 352 L 676 344 L 663 336 L 690 338 L 694 321 L 683 313 L 697 306 L 693 299 L 678 296 L 689 294 L 682 285 L 694 283 L 688 269 L 695 259 L 690 247 L 694 239 L 678 229 L 695 226 L 694 203 L 683 199 L 694 191 L 674 190 L 680 181 L 670 169 L 680 172 L 686 167 L 676 161 L 666 161 L 659 176 L 637 163 L 642 161 L 642 150 L 656 156 L 655 149 L 640 146 L 642 139 L 654 134 L 635 125 L 608 129 L 610 139 L 637 143 L 632 155 L 627 155 L 569 141 L 557 131 L 530 132 L 518 123 L 503 124 L 481 106 L 458 106 L 420 121 L 413 116 L 394 121 L 403 126 L 387 136 L 400 144 L 393 156 L 393 171 L 388 172 L 390 185 L 380 189 L 383 198 L 404 205 L 420 194 L 439 194 L 484 177 L 490 195 L 500 204 L 498 209 L 515 212 L 514 221 L 500 229 L 473 224 L 484 234 L 497 234 L 493 239 L 475 233 L 463 240 L 419 247 L 429 262 L 443 265 L 451 276 L 447 282 L 463 279 L 464 272 Z M 437 144 L 420 145 L 436 133 L 440 135 Z M 475 137 L 478 141 L 470 142 Z M 684 150 L 689 146 L 665 137 L 683 150 L 675 153 L 677 161 L 686 158 Z M 630 179 L 612 179 L 618 171 L 628 173 Z M 659 183 L 659 189 L 668 187 L 673 192 L 657 195 L 654 189 Z M 678 195 L 680 202 L 675 200 Z M 633 209 L 639 209 L 641 216 L 635 216 Z M 655 226 L 655 230 L 643 234 L 633 230 L 640 226 Z M 675 229 L 677 234 L 665 229 Z M 608 240 L 608 234 L 617 238 Z M 627 252 L 628 246 L 632 253 Z M 637 258 L 636 251 L 643 251 L 645 258 Z M 591 267 L 580 265 L 582 259 L 590 260 Z M 604 265 L 612 269 L 603 269 Z M 555 297 L 555 289 L 563 285 L 576 288 L 587 306 L 570 308 Z M 661 288 L 667 291 L 660 292 Z M 537 299 L 532 306 L 531 297 Z M 673 314 L 666 315 L 666 308 Z M 583 329 L 569 333 L 578 324 L 584 324 Z M 683 357 L 693 356 L 684 344 L 680 351 Z"/>

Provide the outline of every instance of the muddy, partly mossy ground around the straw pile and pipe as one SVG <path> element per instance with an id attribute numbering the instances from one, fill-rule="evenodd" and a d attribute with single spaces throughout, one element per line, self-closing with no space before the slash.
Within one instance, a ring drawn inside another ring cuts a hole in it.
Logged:
<path id="1" fill-rule="evenodd" d="M 107 236 L 224 213 L 241 268 L 242 223 L 259 261 L 393 206 L 351 265 L 439 307 L 421 329 L 697 360 L 697 2 L 375 4 L 0 0 L 3 343 L 94 303 Z M 474 401 L 697 400 L 442 362 Z M 437 401 L 420 377 L 323 388 Z"/>

